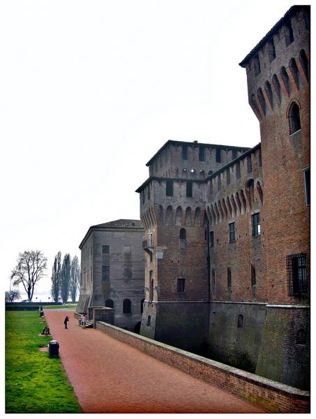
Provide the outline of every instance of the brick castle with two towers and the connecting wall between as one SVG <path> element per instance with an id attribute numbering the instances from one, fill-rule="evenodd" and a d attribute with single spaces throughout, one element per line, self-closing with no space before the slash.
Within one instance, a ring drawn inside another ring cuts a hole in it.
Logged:
<path id="1" fill-rule="evenodd" d="M 167 141 L 137 189 L 141 335 L 309 387 L 310 8 L 241 61 L 261 142 Z"/>

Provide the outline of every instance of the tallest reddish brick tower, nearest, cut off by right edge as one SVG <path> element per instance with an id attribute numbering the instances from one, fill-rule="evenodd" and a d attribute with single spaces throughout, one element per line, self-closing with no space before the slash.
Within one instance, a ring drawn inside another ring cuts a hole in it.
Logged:
<path id="1" fill-rule="evenodd" d="M 308 385 L 310 264 L 310 6 L 293 6 L 241 61 L 259 119 L 268 291 L 257 373 Z M 271 333 L 275 330 L 275 333 Z M 282 368 L 276 365 L 282 363 Z"/>

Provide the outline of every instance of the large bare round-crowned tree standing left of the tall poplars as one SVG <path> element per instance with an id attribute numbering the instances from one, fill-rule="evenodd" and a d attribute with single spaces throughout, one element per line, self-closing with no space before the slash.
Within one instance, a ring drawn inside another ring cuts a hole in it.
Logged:
<path id="1" fill-rule="evenodd" d="M 17 265 L 11 271 L 13 286 L 22 284 L 29 300 L 32 299 L 34 288 L 45 275 L 47 258 L 40 250 L 27 250 L 19 253 Z"/>

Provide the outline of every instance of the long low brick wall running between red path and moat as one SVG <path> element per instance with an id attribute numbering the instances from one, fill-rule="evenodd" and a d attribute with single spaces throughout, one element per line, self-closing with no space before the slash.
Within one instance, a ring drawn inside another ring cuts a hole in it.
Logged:
<path id="1" fill-rule="evenodd" d="M 310 393 L 307 391 L 162 344 L 102 321 L 96 322 L 96 329 L 273 413 L 309 413 L 310 411 Z"/>

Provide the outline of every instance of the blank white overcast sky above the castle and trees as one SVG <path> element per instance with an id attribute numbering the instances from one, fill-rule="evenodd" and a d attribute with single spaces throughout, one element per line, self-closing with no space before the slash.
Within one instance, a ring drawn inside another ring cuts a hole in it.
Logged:
<path id="1" fill-rule="evenodd" d="M 167 140 L 256 145 L 238 64 L 293 4 L 2 1 L 3 291 L 17 253 L 40 249 L 33 300 L 47 300 L 59 250 L 80 256 L 89 226 L 139 219 L 135 189 Z"/>

